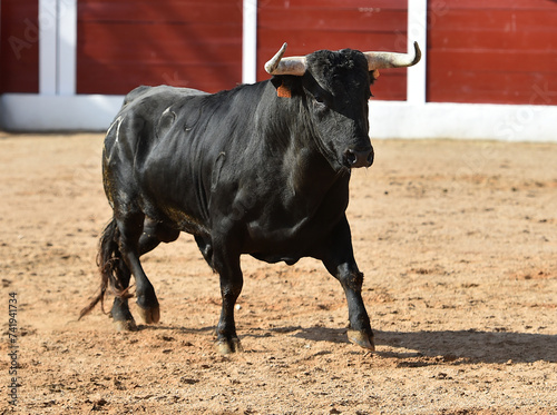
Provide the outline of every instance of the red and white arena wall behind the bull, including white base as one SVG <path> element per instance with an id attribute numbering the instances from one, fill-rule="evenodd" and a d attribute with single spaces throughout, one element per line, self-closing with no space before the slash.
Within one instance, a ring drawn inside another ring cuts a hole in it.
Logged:
<path id="1" fill-rule="evenodd" d="M 382 70 L 371 136 L 554 141 L 553 0 L 3 0 L 0 125 L 102 130 L 138 85 L 215 92 L 266 79 L 263 63 L 350 47 L 411 50 Z"/>

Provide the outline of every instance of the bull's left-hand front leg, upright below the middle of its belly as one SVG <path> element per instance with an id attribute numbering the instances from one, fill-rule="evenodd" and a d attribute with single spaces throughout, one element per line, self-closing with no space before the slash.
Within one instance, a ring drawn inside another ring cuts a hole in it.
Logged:
<path id="1" fill-rule="evenodd" d="M 215 249 L 213 265 L 221 276 L 221 296 L 223 298 L 221 318 L 216 327 L 216 348 L 223 355 L 242 352 L 234 322 L 234 306 L 244 284 L 240 255 L 231 255 L 225 250 Z"/>

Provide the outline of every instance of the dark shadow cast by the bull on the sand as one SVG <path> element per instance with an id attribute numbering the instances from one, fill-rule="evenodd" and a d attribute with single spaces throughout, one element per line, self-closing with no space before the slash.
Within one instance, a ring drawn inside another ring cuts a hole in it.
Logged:
<path id="1" fill-rule="evenodd" d="M 378 354 L 385 357 L 453 356 L 481 363 L 557 362 L 557 335 L 477 330 L 374 333 Z M 345 328 L 297 327 L 293 335 L 312 342 L 348 343 Z M 394 350 L 381 352 L 381 346 L 391 346 Z"/>

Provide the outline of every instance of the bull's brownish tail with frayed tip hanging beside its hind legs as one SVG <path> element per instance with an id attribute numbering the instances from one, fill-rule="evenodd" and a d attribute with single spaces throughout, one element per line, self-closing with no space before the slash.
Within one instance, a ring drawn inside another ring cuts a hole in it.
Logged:
<path id="1" fill-rule="evenodd" d="M 116 220 L 113 218 L 106 226 L 99 240 L 99 250 L 97 254 L 97 266 L 100 271 L 99 293 L 87 307 L 81 309 L 78 319 L 89 314 L 99 302 L 100 308 L 102 313 L 105 313 L 105 296 L 109 286 L 117 296 L 127 296 L 127 288 L 124 288 L 124 281 L 121 280 L 124 273 L 123 268 L 126 268 L 126 266 L 124 265 L 118 248 L 118 238 L 119 230 Z M 125 285 L 127 286 L 128 284 Z"/>

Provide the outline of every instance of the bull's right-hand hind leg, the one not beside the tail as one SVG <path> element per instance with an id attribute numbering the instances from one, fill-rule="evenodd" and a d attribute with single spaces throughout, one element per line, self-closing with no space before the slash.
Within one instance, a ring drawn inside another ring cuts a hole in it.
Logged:
<path id="1" fill-rule="evenodd" d="M 127 267 L 131 271 L 136 280 L 136 297 L 139 315 L 145 323 L 158 323 L 160 318 L 160 309 L 155 288 L 150 284 L 147 275 L 139 261 L 140 244 L 139 239 L 144 233 L 145 215 L 143 213 L 116 215 L 116 223 L 120 231 L 119 250 Z M 153 243 L 146 247 L 153 249 Z"/>

